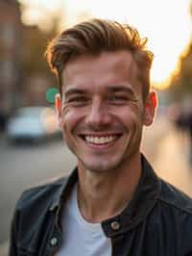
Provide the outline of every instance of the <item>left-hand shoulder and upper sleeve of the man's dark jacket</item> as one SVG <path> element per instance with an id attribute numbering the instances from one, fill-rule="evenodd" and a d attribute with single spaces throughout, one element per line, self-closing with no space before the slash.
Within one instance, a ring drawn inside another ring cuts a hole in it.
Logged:
<path id="1" fill-rule="evenodd" d="M 67 178 L 62 177 L 21 194 L 12 218 L 12 238 L 17 247 L 24 248 L 26 251 L 28 249 L 38 251 L 37 243 L 41 230 L 45 231 L 55 223 L 56 211 L 52 213 L 60 202 L 66 181 Z M 37 254 L 33 253 L 33 255 Z"/>

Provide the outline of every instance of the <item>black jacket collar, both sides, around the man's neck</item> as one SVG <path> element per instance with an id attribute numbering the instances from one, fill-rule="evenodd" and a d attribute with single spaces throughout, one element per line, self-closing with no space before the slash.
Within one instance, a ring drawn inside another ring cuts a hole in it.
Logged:
<path id="1" fill-rule="evenodd" d="M 102 222 L 104 232 L 108 237 L 123 234 L 134 228 L 149 215 L 156 204 L 160 194 L 160 180 L 143 155 L 141 155 L 141 165 L 142 174 L 128 207 L 119 216 L 109 218 Z M 68 178 L 62 178 L 59 181 L 59 192 L 56 194 L 50 207 L 51 211 L 57 209 L 57 222 L 59 226 L 61 224 L 60 219 L 64 203 L 77 181 L 77 167 Z M 113 222 L 118 223 L 118 229 L 114 230 L 111 228 Z"/>

